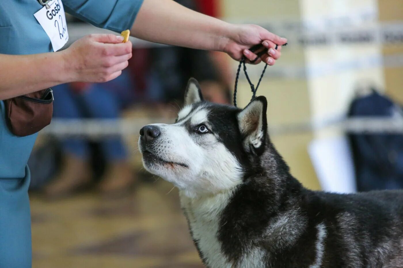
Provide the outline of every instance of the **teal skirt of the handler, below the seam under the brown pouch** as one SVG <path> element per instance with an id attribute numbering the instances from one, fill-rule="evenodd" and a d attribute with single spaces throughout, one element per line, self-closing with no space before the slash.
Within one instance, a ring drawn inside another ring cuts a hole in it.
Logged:
<path id="1" fill-rule="evenodd" d="M 30 268 L 32 262 L 31 213 L 25 178 L 0 178 L 0 268 Z"/>

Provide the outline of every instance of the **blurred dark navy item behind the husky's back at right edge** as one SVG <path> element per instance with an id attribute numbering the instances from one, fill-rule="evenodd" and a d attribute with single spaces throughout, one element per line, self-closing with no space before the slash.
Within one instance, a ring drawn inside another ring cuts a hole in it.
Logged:
<path id="1" fill-rule="evenodd" d="M 403 109 L 376 91 L 355 99 L 349 118 L 401 117 Z M 403 134 L 349 134 L 358 191 L 403 188 Z"/>

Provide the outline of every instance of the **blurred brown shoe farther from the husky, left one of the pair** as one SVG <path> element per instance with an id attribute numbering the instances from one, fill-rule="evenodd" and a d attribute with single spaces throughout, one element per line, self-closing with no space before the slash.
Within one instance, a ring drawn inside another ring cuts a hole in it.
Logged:
<path id="1" fill-rule="evenodd" d="M 90 183 L 88 161 L 66 154 L 59 175 L 45 187 L 44 194 L 47 198 L 63 198 L 87 189 Z"/>

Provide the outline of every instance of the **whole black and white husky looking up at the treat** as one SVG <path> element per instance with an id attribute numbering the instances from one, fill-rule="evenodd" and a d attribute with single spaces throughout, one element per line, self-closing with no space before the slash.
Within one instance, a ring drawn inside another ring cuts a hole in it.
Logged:
<path id="1" fill-rule="evenodd" d="M 267 101 L 203 101 L 189 80 L 172 125 L 140 134 L 145 168 L 180 190 L 204 264 L 226 267 L 403 267 L 403 194 L 305 189 L 267 133 Z"/>

